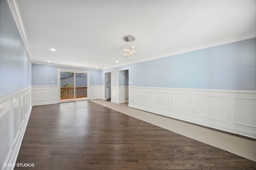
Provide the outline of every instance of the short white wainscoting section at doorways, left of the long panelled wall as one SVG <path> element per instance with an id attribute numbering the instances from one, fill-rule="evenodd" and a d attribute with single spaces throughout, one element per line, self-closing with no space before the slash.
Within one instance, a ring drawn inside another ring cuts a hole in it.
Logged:
<path id="1" fill-rule="evenodd" d="M 128 102 L 128 86 L 111 86 L 111 102 L 119 104 Z"/>

